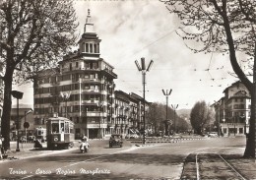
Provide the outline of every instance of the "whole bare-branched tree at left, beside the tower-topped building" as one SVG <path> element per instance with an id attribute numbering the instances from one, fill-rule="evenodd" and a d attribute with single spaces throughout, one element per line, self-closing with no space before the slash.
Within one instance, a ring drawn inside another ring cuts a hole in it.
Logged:
<path id="1" fill-rule="evenodd" d="M 78 25 L 72 3 L 71 0 L 7 0 L 0 4 L 0 61 L 4 82 L 1 133 L 5 149 L 10 148 L 13 84 L 32 80 L 42 69 L 56 67 L 75 43 Z"/>

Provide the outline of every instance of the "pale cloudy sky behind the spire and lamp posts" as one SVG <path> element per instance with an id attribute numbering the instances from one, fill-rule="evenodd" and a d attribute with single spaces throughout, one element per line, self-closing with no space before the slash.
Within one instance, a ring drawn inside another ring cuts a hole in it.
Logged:
<path id="1" fill-rule="evenodd" d="M 175 32 L 178 19 L 157 0 L 77 0 L 75 8 L 80 34 L 90 8 L 101 39 L 100 57 L 118 75 L 116 90 L 143 96 L 142 75 L 134 63 L 141 57 L 145 57 L 146 64 L 154 60 L 147 73 L 146 99 L 165 104 L 161 90 L 172 89 L 168 103 L 179 104 L 178 109 L 191 108 L 198 100 L 213 103 L 237 80 L 228 74 L 232 72 L 228 56 L 190 51 Z M 20 102 L 32 103 L 32 86 L 24 89 Z"/>

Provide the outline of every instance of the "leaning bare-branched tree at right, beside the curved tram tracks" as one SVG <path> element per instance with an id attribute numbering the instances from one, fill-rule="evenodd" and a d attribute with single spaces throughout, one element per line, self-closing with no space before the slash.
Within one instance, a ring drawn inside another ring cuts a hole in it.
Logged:
<path id="1" fill-rule="evenodd" d="M 244 156 L 255 157 L 256 1 L 160 1 L 165 3 L 170 13 L 179 17 L 181 26 L 177 32 L 191 50 L 229 55 L 234 73 L 251 93 L 250 133 Z M 239 53 L 243 59 L 239 58 Z M 248 71 L 241 68 L 245 64 Z M 249 75 L 253 75 L 253 82 L 248 79 Z"/>

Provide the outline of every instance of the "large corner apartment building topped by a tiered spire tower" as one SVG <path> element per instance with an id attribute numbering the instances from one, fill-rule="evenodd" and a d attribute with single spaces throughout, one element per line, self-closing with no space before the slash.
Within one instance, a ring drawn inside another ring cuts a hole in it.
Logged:
<path id="1" fill-rule="evenodd" d="M 40 72 L 34 84 L 34 124 L 45 127 L 53 115 L 75 123 L 75 138 L 104 138 L 114 132 L 114 67 L 100 58 L 90 10 L 79 49 L 63 57 L 59 67 Z"/>

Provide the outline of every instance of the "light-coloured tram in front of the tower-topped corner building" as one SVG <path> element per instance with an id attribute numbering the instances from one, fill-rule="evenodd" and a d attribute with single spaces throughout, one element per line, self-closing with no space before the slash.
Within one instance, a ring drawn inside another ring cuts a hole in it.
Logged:
<path id="1" fill-rule="evenodd" d="M 65 117 L 51 117 L 46 121 L 47 148 L 69 149 L 74 146 L 74 123 Z"/>

